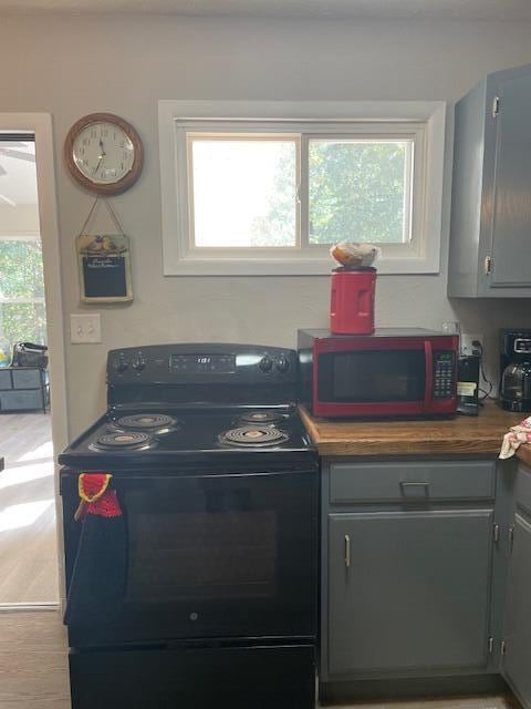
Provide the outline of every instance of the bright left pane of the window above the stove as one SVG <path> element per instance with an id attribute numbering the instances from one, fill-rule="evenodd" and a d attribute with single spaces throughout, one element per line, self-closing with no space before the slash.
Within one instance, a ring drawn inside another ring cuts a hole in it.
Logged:
<path id="1" fill-rule="evenodd" d="M 298 244 L 296 137 L 190 133 L 187 143 L 195 247 Z"/>

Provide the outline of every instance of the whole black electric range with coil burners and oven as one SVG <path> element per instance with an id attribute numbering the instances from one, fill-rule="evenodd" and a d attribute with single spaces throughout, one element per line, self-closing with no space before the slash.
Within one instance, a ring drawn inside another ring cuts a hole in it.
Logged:
<path id="1" fill-rule="evenodd" d="M 296 381 L 282 348 L 108 353 L 107 411 L 59 456 L 73 709 L 313 708 L 319 460 Z M 118 518 L 74 520 L 91 472 Z"/>

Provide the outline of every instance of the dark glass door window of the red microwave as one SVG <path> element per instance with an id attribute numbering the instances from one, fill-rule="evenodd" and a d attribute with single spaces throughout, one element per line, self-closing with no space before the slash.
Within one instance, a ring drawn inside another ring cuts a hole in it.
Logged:
<path id="1" fill-rule="evenodd" d="M 319 357 L 319 400 L 337 403 L 421 401 L 424 350 L 356 350 Z"/>

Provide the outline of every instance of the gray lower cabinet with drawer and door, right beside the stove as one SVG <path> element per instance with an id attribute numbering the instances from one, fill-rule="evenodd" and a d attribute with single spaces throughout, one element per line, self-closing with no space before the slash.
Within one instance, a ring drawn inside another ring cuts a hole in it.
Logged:
<path id="1" fill-rule="evenodd" d="M 323 682 L 496 671 L 496 472 L 323 461 Z"/>

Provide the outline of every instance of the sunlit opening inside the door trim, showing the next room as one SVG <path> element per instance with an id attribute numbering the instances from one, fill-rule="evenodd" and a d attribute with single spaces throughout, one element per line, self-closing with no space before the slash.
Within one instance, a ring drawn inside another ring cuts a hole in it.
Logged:
<path id="1" fill-rule="evenodd" d="M 19 358 L 15 347 L 29 352 Z M 48 345 L 35 141 L 33 134 L 4 133 L 0 136 L 0 606 L 59 602 L 48 357 L 39 347 Z"/>

